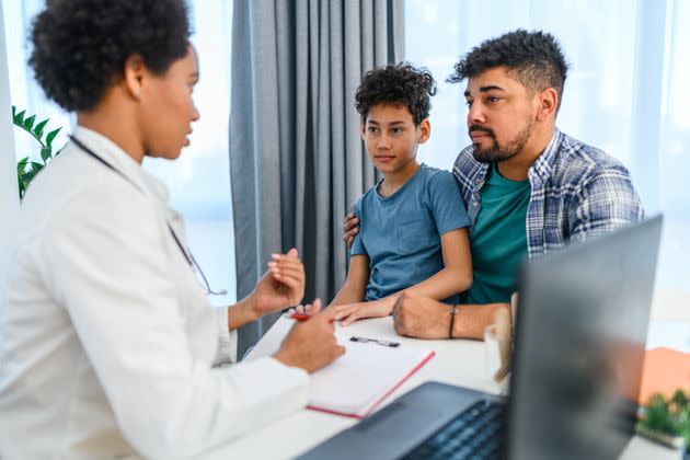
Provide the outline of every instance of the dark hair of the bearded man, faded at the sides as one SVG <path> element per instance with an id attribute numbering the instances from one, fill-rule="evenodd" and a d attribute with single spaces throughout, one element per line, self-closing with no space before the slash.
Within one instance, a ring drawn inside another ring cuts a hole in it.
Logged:
<path id="1" fill-rule="evenodd" d="M 460 83 L 465 78 L 503 66 L 531 92 L 547 88 L 556 90 L 560 105 L 568 66 L 559 42 L 545 32 L 520 28 L 487 39 L 455 65 L 455 72 L 447 81 Z"/>

